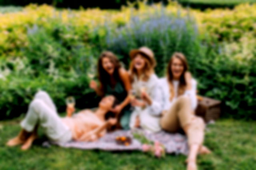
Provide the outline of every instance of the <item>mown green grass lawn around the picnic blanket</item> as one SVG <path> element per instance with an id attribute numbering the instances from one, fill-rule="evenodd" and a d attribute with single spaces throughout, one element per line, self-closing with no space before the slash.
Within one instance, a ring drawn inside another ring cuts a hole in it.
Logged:
<path id="1" fill-rule="evenodd" d="M 182 170 L 186 167 L 183 155 L 168 155 L 159 160 L 138 151 L 44 148 L 40 141 L 28 151 L 7 148 L 6 141 L 20 130 L 19 121 L 0 121 L 0 170 Z M 256 169 L 256 122 L 220 120 L 208 126 L 205 144 L 213 153 L 199 156 L 200 169 Z"/>

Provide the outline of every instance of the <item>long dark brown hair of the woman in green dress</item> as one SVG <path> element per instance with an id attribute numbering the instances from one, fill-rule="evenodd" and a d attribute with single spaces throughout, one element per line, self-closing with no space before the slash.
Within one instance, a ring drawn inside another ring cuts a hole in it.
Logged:
<path id="1" fill-rule="evenodd" d="M 117 59 L 114 53 L 112 53 L 111 51 L 104 51 L 100 54 L 100 58 L 98 60 L 98 78 L 100 80 L 100 88 L 104 92 L 104 94 L 106 92 L 106 87 L 104 85 L 111 84 L 110 75 L 102 66 L 102 60 L 105 57 L 110 59 L 110 62 L 114 65 L 113 76 L 116 82 L 120 80 L 119 69 L 121 68 L 120 61 Z"/>

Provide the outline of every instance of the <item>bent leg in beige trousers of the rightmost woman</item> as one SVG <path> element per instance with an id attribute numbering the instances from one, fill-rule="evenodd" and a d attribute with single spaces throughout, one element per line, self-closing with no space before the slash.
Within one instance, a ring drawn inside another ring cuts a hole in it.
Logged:
<path id="1" fill-rule="evenodd" d="M 188 137 L 189 155 L 188 170 L 196 169 L 196 156 L 204 140 L 204 122 L 195 117 L 190 106 L 190 99 L 182 96 L 172 105 L 171 109 L 161 118 L 163 129 L 175 132 L 182 127 Z"/>

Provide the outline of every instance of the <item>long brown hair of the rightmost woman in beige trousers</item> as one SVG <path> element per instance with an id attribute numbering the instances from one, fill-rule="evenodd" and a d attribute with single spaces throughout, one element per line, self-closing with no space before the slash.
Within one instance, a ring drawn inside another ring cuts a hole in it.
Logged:
<path id="1" fill-rule="evenodd" d="M 172 69 L 171 69 L 172 62 L 173 62 L 174 58 L 180 59 L 180 61 L 182 61 L 183 67 L 184 67 L 183 73 L 181 74 L 180 80 L 179 80 L 178 96 L 182 95 L 186 89 L 185 73 L 186 73 L 186 71 L 188 71 L 188 62 L 187 62 L 185 55 L 183 53 L 175 52 L 172 55 L 172 57 L 168 63 L 168 66 L 167 66 L 167 80 L 168 80 L 169 88 L 170 88 L 170 101 L 172 101 L 172 99 L 174 98 L 174 88 L 173 88 L 173 83 L 172 83 L 173 75 L 172 75 Z"/>

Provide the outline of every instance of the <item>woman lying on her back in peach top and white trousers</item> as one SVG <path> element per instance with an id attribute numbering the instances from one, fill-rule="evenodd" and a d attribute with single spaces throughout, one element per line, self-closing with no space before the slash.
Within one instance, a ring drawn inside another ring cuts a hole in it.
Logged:
<path id="1" fill-rule="evenodd" d="M 114 96 L 104 97 L 98 110 L 83 110 L 72 117 L 61 118 L 50 96 L 44 92 L 36 93 L 30 103 L 28 113 L 21 122 L 22 130 L 15 138 L 7 142 L 8 146 L 22 144 L 22 150 L 30 148 L 37 137 L 37 127 L 44 129 L 46 136 L 54 142 L 70 140 L 94 141 L 106 133 L 107 126 L 116 124 L 116 119 L 105 120 L 105 115 L 116 105 Z"/>

